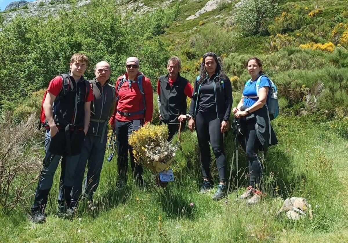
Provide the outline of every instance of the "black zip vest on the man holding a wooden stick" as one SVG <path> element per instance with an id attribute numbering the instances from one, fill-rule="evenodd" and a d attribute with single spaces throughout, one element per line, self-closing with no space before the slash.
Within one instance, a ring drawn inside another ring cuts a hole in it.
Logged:
<path id="1" fill-rule="evenodd" d="M 166 124 L 179 124 L 179 115 L 186 114 L 187 102 L 184 89 L 189 82 L 178 74 L 176 81 L 169 84 L 169 74 L 159 77 L 160 84 L 160 114 Z"/>

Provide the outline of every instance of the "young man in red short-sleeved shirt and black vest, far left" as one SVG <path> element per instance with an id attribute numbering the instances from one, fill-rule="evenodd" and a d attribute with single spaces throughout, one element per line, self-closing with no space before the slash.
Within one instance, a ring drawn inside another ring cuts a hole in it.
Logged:
<path id="1" fill-rule="evenodd" d="M 42 104 L 46 117 L 43 123 L 46 127 L 46 155 L 31 207 L 34 223 L 42 223 L 46 220 L 44 210 L 47 196 L 62 156 L 61 180 L 65 200 L 62 202 L 60 195 L 58 203 L 60 206 L 65 203 L 69 206 L 75 168 L 88 131 L 93 92 L 89 82 L 82 76 L 86 71 L 88 58 L 81 53 L 74 54 L 69 65 L 68 74 L 62 74 L 50 81 Z"/>

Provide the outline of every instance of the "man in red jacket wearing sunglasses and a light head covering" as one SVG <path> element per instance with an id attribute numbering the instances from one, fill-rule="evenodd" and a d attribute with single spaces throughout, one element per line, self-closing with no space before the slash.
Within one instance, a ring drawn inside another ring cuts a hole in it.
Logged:
<path id="1" fill-rule="evenodd" d="M 143 168 L 135 164 L 132 147 L 128 137 L 144 123 L 151 122 L 153 111 L 152 88 L 150 79 L 139 72 L 139 59 L 129 57 L 126 73 L 117 78 L 116 106 L 110 125 L 115 129 L 117 142 L 118 186 L 127 183 L 128 151 L 134 179 L 143 185 Z"/>

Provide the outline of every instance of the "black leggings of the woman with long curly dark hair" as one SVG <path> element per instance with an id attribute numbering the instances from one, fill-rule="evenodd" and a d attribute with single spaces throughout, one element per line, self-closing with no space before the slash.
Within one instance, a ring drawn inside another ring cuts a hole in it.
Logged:
<path id="1" fill-rule="evenodd" d="M 200 148 L 200 162 L 203 179 L 210 178 L 210 148 L 209 141 L 215 155 L 216 167 L 219 172 L 220 182 L 225 181 L 226 157 L 223 152 L 223 134 L 221 133 L 221 120 L 216 118 L 216 113 L 200 113 L 196 115 L 197 138 Z"/>

